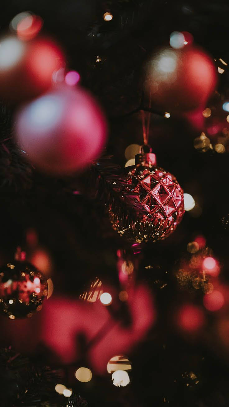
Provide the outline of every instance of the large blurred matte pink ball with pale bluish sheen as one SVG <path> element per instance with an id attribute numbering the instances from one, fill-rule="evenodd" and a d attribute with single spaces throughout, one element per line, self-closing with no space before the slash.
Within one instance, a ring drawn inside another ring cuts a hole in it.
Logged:
<path id="1" fill-rule="evenodd" d="M 63 85 L 19 110 L 15 135 L 37 168 L 64 174 L 82 170 L 98 157 L 106 142 L 107 124 L 88 92 Z"/>

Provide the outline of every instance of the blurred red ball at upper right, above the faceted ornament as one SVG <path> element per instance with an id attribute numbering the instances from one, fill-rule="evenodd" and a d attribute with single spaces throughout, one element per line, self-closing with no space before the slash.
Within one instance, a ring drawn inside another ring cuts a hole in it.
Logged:
<path id="1" fill-rule="evenodd" d="M 155 106 L 167 112 L 204 105 L 216 82 L 214 62 L 196 47 L 162 49 L 146 64 L 146 93 Z"/>

